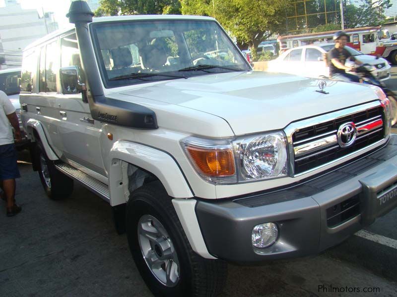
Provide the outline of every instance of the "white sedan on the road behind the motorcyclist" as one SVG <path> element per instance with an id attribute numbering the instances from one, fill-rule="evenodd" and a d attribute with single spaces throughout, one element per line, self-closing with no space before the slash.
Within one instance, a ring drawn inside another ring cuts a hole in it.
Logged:
<path id="1" fill-rule="evenodd" d="M 323 61 L 323 53 L 330 51 L 334 46 L 334 44 L 320 44 L 288 49 L 278 58 L 268 63 L 268 71 L 315 78 L 327 77 L 329 76 L 330 68 Z M 390 78 L 391 66 L 386 59 L 363 54 L 347 46 L 345 49 L 361 62 L 374 65 L 379 80 L 383 81 Z M 347 60 L 346 65 L 350 64 L 353 64 L 353 62 Z"/>

